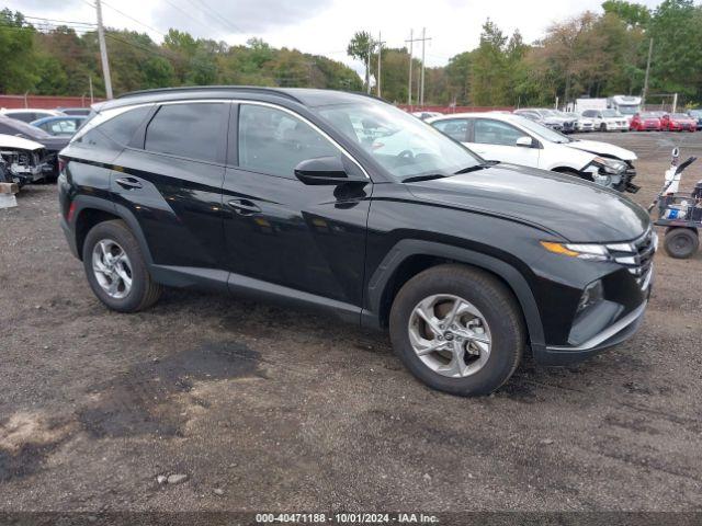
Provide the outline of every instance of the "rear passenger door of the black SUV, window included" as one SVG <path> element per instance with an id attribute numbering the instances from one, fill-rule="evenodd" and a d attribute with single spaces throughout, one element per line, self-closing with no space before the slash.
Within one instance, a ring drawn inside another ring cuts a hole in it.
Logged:
<path id="1" fill-rule="evenodd" d="M 226 282 L 222 183 L 228 101 L 156 106 L 115 160 L 111 191 L 136 218 L 152 262 Z"/>

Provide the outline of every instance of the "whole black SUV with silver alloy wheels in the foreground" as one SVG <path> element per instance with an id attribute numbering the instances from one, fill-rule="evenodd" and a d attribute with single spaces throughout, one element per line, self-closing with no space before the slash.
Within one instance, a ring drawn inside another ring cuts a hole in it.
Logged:
<path id="1" fill-rule="evenodd" d="M 456 395 L 497 389 L 528 346 L 557 365 L 625 340 L 650 290 L 656 237 L 630 199 L 486 162 L 370 96 L 132 93 L 60 161 L 68 243 L 111 309 L 163 285 L 324 308 L 389 328 L 410 371 Z"/>

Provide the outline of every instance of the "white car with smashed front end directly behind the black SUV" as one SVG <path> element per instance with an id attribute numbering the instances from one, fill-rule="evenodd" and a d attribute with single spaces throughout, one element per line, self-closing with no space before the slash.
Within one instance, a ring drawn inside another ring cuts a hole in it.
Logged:
<path id="1" fill-rule="evenodd" d="M 571 139 L 520 115 L 462 113 L 427 121 L 489 161 L 522 164 L 636 192 L 636 153 L 607 142 Z"/>

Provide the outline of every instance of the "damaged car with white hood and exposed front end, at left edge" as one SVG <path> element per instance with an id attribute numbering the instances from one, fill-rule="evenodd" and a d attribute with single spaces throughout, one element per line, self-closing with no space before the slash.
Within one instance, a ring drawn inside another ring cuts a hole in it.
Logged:
<path id="1" fill-rule="evenodd" d="M 46 148 L 38 142 L 0 135 L 0 182 L 24 186 L 47 179 L 53 171 L 47 157 Z"/>

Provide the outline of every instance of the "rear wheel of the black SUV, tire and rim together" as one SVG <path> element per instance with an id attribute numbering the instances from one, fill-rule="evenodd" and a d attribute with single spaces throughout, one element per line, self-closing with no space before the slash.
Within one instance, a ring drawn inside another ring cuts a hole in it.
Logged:
<path id="1" fill-rule="evenodd" d="M 139 243 L 121 220 L 95 225 L 83 243 L 83 267 L 98 299 L 112 310 L 137 312 L 161 296 Z"/>

